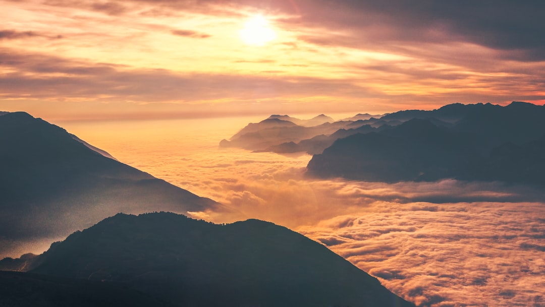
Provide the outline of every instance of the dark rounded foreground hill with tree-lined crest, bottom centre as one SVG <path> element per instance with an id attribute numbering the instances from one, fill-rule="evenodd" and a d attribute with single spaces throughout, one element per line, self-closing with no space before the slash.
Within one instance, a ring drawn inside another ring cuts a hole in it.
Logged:
<path id="1" fill-rule="evenodd" d="M 32 273 L 119 283 L 177 306 L 414 306 L 322 244 L 260 220 L 117 214 L 30 261 Z"/>

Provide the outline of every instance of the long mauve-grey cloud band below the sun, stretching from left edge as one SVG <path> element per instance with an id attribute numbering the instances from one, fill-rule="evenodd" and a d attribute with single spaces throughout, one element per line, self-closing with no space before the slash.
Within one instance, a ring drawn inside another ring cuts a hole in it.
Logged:
<path id="1" fill-rule="evenodd" d="M 0 50 L 4 99 L 96 99 L 136 102 L 246 101 L 306 97 L 342 91 L 361 95 L 368 89 L 344 80 L 274 75 L 179 73 L 134 69 L 124 65 Z M 29 89 L 32 88 L 32 91 Z"/>

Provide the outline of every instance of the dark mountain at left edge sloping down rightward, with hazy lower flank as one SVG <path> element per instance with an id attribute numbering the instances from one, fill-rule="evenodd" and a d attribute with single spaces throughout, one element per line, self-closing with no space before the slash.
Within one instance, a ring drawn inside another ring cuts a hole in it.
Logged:
<path id="1" fill-rule="evenodd" d="M 0 257 L 17 242 L 59 237 L 118 212 L 219 207 L 92 150 L 24 112 L 0 116 Z"/>

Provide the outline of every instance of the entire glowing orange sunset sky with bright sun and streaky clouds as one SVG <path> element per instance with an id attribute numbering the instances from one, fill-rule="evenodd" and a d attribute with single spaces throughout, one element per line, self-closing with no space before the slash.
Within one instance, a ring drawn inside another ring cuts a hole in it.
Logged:
<path id="1" fill-rule="evenodd" d="M 542 1 L 0 3 L 0 110 L 46 120 L 545 103 Z"/>

